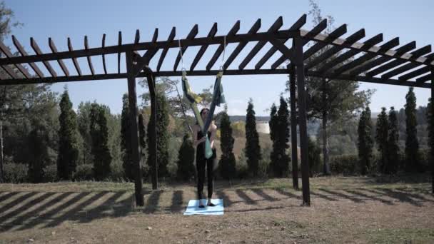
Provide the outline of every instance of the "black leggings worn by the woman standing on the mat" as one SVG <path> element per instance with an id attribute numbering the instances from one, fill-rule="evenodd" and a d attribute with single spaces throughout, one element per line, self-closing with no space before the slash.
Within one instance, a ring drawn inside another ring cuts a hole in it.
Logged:
<path id="1" fill-rule="evenodd" d="M 196 169 L 198 171 L 198 199 L 203 199 L 203 183 L 205 181 L 205 166 L 208 178 L 208 198 L 213 196 L 214 166 L 216 165 L 216 149 L 213 149 L 213 156 L 206 159 L 205 156 L 196 157 Z"/>

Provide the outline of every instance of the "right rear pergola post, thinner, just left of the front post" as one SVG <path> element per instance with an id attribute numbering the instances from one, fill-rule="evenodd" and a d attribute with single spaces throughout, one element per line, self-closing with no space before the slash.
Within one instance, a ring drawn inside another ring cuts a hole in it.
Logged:
<path id="1" fill-rule="evenodd" d="M 291 161 L 293 161 L 293 188 L 298 190 L 298 150 L 296 111 L 296 66 L 289 66 L 289 93 L 291 96 Z"/>

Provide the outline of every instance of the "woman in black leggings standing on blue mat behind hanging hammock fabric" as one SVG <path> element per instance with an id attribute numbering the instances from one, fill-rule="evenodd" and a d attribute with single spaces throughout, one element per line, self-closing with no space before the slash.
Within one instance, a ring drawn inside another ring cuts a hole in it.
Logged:
<path id="1" fill-rule="evenodd" d="M 202 121 L 206 120 L 208 116 L 209 109 L 203 108 L 201 110 Z M 204 203 L 202 203 L 201 199 L 203 199 L 203 183 L 205 181 L 205 166 L 208 177 L 208 203 L 206 205 L 213 207 L 215 206 L 211 203 L 211 197 L 213 196 L 213 169 L 216 165 L 216 148 L 214 146 L 214 138 L 216 138 L 217 126 L 212 121 L 211 125 L 208 128 L 208 139 L 211 143 L 211 148 L 213 150 L 213 156 L 211 158 L 205 157 L 205 140 L 206 137 L 202 133 L 201 126 L 196 123 L 193 126 L 193 146 L 196 147 L 196 169 L 198 171 L 198 199 L 199 199 L 199 208 L 205 208 Z"/>

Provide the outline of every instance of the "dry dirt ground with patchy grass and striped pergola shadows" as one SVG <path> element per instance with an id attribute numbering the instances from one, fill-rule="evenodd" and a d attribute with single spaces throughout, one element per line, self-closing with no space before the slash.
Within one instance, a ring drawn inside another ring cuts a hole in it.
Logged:
<path id="1" fill-rule="evenodd" d="M 149 185 L 145 185 L 149 189 Z M 216 183 L 224 215 L 184 216 L 194 185 L 0 184 L 0 243 L 434 243 L 430 183 L 311 178 L 311 207 L 290 179 Z"/>

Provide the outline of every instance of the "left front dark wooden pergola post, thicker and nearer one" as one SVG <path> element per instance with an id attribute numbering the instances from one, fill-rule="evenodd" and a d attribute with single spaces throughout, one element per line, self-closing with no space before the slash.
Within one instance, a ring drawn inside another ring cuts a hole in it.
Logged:
<path id="1" fill-rule="evenodd" d="M 133 73 L 133 53 L 126 52 L 126 72 L 128 73 L 128 101 L 130 108 L 131 121 L 131 148 L 133 151 L 133 164 L 136 175 L 134 177 L 134 188 L 136 192 L 136 205 L 143 206 L 140 153 L 139 153 L 139 135 L 138 135 L 138 117 L 137 117 L 137 94 L 136 94 L 136 74 Z"/>

